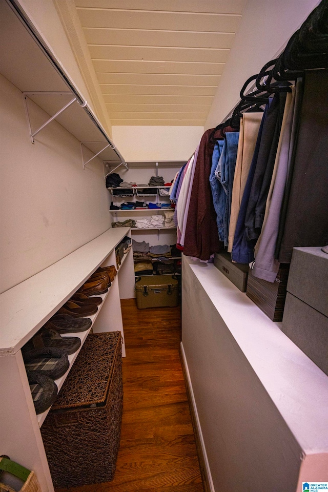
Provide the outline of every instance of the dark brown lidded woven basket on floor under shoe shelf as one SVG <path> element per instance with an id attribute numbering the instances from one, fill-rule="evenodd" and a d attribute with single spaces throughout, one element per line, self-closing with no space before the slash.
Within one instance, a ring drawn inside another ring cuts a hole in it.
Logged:
<path id="1" fill-rule="evenodd" d="M 122 418 L 120 332 L 89 334 L 41 433 L 55 488 L 113 480 Z"/>

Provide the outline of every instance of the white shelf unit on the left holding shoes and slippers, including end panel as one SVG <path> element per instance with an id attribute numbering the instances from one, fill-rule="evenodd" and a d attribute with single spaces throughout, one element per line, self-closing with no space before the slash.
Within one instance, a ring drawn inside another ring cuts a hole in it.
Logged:
<path id="1" fill-rule="evenodd" d="M 115 247 L 126 236 L 129 228 L 109 229 L 78 248 L 42 272 L 0 295 L 2 317 L 0 342 L 0 372 L 2 374 L 2 453 L 15 461 L 33 468 L 43 491 L 53 491 L 53 485 L 44 452 L 39 426 L 48 411 L 36 415 L 20 348 L 53 316 L 99 267 L 115 264 Z M 126 269 L 126 265 L 130 268 Z M 124 340 L 120 310 L 119 284 L 133 285 L 131 248 L 122 258 L 117 275 L 109 291 L 101 295 L 92 319 L 94 333 L 121 331 Z M 74 333 L 83 343 L 90 330 Z M 67 334 L 69 335 L 69 334 Z M 80 350 L 80 349 L 79 349 Z M 69 356 L 72 366 L 79 350 Z M 124 341 L 122 351 L 125 354 Z M 69 372 L 69 371 L 68 371 Z M 68 372 L 56 380 L 58 389 Z"/>

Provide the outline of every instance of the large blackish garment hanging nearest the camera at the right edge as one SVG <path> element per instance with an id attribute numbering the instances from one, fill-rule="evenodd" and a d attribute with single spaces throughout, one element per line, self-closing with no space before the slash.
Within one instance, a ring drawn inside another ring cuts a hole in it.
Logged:
<path id="1" fill-rule="evenodd" d="M 297 149 L 279 261 L 328 244 L 328 71 L 305 72 Z"/>

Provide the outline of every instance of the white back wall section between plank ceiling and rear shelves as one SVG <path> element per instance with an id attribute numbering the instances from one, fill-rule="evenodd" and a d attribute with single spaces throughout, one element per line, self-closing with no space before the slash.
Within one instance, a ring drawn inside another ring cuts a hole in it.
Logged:
<path id="1" fill-rule="evenodd" d="M 126 161 L 188 160 L 203 127 L 112 126 L 113 141 Z"/>

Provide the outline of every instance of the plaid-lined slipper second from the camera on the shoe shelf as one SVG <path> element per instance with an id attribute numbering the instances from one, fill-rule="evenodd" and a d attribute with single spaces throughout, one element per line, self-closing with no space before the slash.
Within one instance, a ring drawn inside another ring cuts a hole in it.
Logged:
<path id="1" fill-rule="evenodd" d="M 37 371 L 51 379 L 64 376 L 70 366 L 67 354 L 60 348 L 33 348 L 33 350 L 22 352 L 22 355 L 26 371 Z"/>

